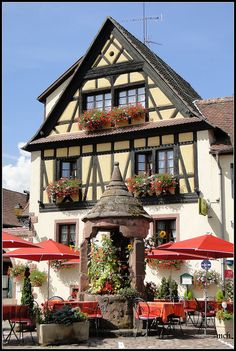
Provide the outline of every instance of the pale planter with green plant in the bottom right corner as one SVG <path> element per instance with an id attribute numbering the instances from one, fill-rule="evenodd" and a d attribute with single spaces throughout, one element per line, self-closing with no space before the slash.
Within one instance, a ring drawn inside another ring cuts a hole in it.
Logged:
<path id="1" fill-rule="evenodd" d="M 234 338 L 233 313 L 225 309 L 216 312 L 215 326 L 218 337 Z"/>

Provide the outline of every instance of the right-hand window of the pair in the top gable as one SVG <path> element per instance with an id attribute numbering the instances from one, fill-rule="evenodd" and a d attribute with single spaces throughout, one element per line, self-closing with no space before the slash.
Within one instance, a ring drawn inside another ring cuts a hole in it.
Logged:
<path id="1" fill-rule="evenodd" d="M 137 105 L 140 103 L 145 107 L 145 88 L 132 88 L 127 90 L 118 91 L 117 104 L 119 107 L 126 105 Z"/>

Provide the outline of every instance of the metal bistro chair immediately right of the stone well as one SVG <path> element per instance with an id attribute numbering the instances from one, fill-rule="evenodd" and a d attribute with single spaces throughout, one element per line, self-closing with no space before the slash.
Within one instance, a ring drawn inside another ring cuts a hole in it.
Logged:
<path id="1" fill-rule="evenodd" d="M 157 329 L 158 321 L 161 320 L 160 318 L 161 311 L 159 308 L 155 308 L 155 313 L 151 313 L 148 302 L 143 300 L 140 297 L 136 297 L 133 300 L 133 309 L 134 309 L 135 322 L 138 323 L 137 332 L 135 336 L 137 336 L 137 334 L 139 333 L 139 325 L 142 324 L 142 327 L 143 327 L 143 322 L 146 323 L 146 334 L 145 334 L 146 336 L 148 336 L 148 333 L 153 327 Z"/>

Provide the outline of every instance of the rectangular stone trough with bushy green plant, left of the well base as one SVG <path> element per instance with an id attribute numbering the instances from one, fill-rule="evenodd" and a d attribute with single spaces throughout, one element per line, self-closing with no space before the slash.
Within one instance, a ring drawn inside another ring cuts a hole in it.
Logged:
<path id="1" fill-rule="evenodd" d="M 58 311 L 44 307 L 37 313 L 37 336 L 41 345 L 86 341 L 89 338 L 87 315 L 79 307 L 65 305 Z"/>

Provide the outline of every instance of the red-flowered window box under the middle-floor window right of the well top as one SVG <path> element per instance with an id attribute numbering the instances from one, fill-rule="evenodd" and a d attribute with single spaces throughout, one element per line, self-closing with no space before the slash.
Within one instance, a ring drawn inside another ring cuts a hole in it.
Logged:
<path id="1" fill-rule="evenodd" d="M 176 178 L 172 174 L 159 173 L 148 176 L 139 174 L 126 179 L 128 190 L 136 197 L 175 194 Z"/>

